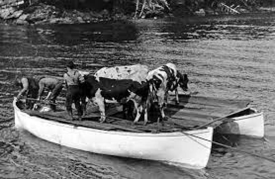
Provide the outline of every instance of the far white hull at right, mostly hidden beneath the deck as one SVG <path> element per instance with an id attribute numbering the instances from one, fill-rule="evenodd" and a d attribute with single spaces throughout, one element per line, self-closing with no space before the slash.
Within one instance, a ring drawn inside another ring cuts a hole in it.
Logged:
<path id="1" fill-rule="evenodd" d="M 253 109 L 252 109 L 253 110 Z M 264 137 L 264 118 L 262 112 L 234 117 L 232 122 L 227 122 L 217 127 L 217 132 L 222 134 L 238 134 L 251 137 Z"/>

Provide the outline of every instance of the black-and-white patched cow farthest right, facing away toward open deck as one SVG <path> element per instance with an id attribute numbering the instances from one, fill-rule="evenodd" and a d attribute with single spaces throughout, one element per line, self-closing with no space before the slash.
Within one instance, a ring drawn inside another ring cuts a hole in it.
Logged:
<path id="1" fill-rule="evenodd" d="M 151 91 L 156 98 L 162 118 L 165 118 L 164 105 L 167 106 L 168 91 L 175 91 L 176 103 L 178 104 L 178 86 L 181 87 L 183 91 L 187 91 L 188 89 L 187 74 L 181 74 L 173 63 L 168 63 L 150 71 L 147 80 L 153 82 L 153 89 L 151 89 Z"/>

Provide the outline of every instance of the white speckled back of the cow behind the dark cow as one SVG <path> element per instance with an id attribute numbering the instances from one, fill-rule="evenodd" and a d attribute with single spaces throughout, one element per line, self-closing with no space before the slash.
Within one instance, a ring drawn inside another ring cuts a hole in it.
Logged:
<path id="1" fill-rule="evenodd" d="M 103 67 L 95 73 L 95 77 L 110 79 L 131 79 L 136 82 L 145 82 L 149 69 L 146 65 L 129 65 L 116 67 Z"/>

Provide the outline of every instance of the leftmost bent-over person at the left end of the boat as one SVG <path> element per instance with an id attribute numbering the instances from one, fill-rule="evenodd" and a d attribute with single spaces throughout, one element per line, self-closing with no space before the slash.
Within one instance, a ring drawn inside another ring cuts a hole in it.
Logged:
<path id="1" fill-rule="evenodd" d="M 35 79 L 33 77 L 22 77 L 17 78 L 15 81 L 15 86 L 21 87 L 22 90 L 17 95 L 17 100 L 19 100 L 23 95 L 26 95 L 27 98 L 33 98 L 33 99 L 26 99 L 26 108 L 32 109 L 34 105 L 34 100 L 38 96 L 38 79 Z"/>

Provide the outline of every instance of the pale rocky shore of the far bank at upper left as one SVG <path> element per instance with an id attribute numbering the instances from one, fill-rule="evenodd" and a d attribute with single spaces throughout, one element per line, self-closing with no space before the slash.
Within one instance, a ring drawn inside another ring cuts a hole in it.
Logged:
<path id="1" fill-rule="evenodd" d="M 1 1 L 0 1 L 1 2 Z M 112 14 L 107 10 L 101 12 L 61 9 L 53 5 L 37 3 L 28 6 L 24 1 L 15 0 L 0 3 L 0 22 L 12 24 L 74 24 L 109 21 L 127 18 L 123 14 Z"/>

